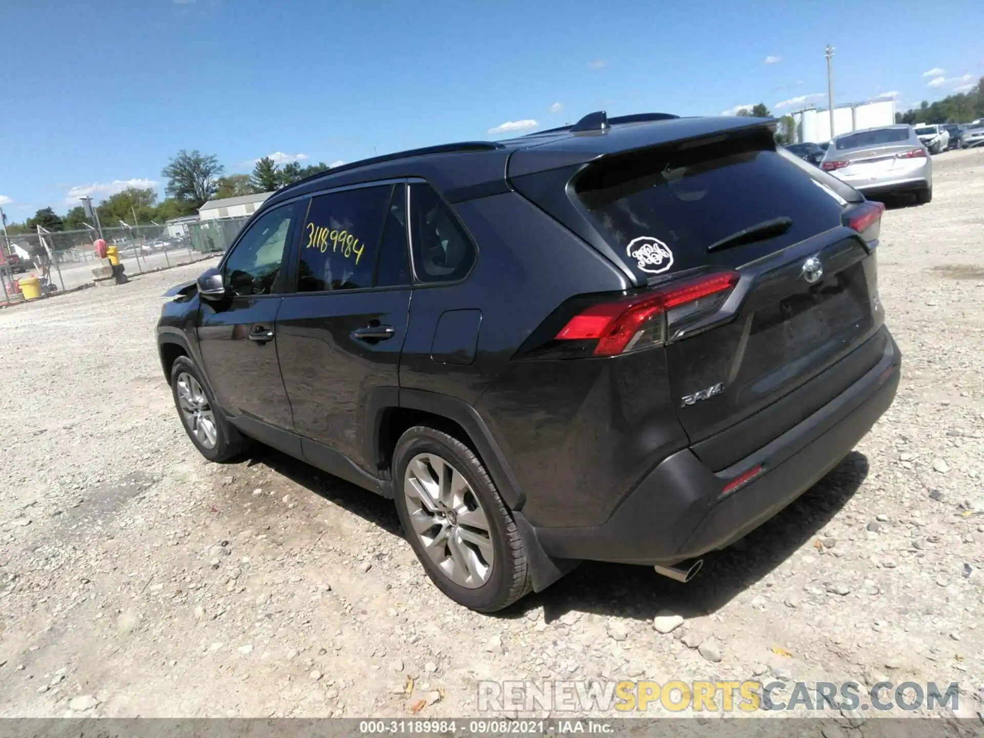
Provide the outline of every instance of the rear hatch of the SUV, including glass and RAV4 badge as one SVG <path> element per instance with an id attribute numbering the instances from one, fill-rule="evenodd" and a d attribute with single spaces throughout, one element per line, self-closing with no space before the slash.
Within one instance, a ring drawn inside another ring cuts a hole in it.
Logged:
<path id="1" fill-rule="evenodd" d="M 768 128 L 603 156 L 568 191 L 642 292 L 679 292 L 681 281 L 717 274 L 736 280 L 703 307 L 667 304 L 661 349 L 679 421 L 714 470 L 764 446 L 880 358 L 853 362 L 795 406 L 773 407 L 768 423 L 742 423 L 738 439 L 722 433 L 776 405 L 882 324 L 872 251 L 881 206 L 775 151 Z M 848 225 L 859 214 L 863 236 Z"/>

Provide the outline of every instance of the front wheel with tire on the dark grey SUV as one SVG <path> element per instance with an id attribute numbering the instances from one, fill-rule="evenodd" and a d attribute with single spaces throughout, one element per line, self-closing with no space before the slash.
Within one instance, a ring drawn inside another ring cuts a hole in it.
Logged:
<path id="1" fill-rule="evenodd" d="M 187 356 L 178 356 L 171 366 L 171 395 L 185 433 L 202 456 L 220 462 L 242 454 L 246 439 L 222 415 Z"/>

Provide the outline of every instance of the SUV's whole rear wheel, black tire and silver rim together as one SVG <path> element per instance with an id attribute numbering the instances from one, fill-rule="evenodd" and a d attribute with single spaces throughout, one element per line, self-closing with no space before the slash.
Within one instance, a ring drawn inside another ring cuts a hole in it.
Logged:
<path id="1" fill-rule="evenodd" d="M 495 612 L 530 590 L 523 539 L 468 447 L 414 426 L 400 436 L 393 469 L 400 523 L 441 591 L 472 610 Z"/>

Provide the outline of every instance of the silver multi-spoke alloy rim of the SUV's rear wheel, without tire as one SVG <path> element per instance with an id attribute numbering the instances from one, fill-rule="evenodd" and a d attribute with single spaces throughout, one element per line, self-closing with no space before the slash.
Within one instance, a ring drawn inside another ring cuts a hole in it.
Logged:
<path id="1" fill-rule="evenodd" d="M 406 464 L 403 496 L 414 533 L 437 568 L 469 589 L 488 582 L 492 528 L 461 472 L 436 454 L 417 454 Z"/>

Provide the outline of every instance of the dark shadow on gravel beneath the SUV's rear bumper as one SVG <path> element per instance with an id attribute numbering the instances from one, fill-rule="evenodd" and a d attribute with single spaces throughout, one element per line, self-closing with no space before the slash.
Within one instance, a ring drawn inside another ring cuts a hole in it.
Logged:
<path id="1" fill-rule="evenodd" d="M 522 617 L 537 606 L 543 607 L 548 623 L 572 610 L 640 620 L 664 608 L 685 618 L 713 613 L 767 577 L 798 548 L 816 541 L 867 475 L 868 459 L 852 452 L 767 523 L 723 551 L 707 554 L 702 572 L 688 584 L 661 577 L 650 567 L 585 562 L 502 616 Z"/>

